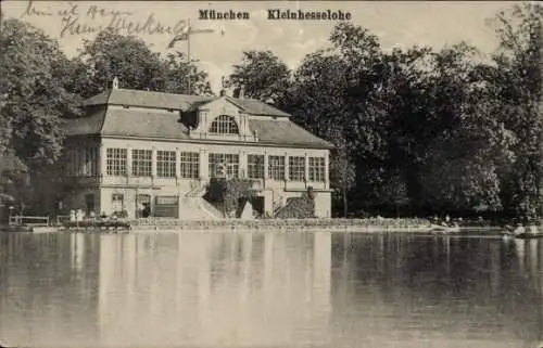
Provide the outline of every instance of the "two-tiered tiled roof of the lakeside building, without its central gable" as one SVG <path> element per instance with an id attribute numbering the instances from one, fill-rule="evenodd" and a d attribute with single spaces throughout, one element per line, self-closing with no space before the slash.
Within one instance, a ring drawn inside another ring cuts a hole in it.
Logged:
<path id="1" fill-rule="evenodd" d="M 160 92 L 112 90 L 84 102 L 89 114 L 84 117 L 64 119 L 66 136 L 110 136 L 138 137 L 150 139 L 202 141 L 191 139 L 187 127 L 179 121 L 178 113 L 159 114 L 152 108 L 173 108 L 184 112 L 194 109 L 216 98 L 166 94 Z M 313 149 L 331 149 L 332 145 L 295 125 L 283 113 L 273 106 L 254 100 L 238 100 L 227 96 L 227 100 L 250 115 L 266 115 L 269 119 L 250 119 L 249 128 L 256 131 L 258 143 L 279 146 L 296 146 Z M 103 106 L 98 106 L 103 105 Z M 129 105 L 143 108 L 117 108 L 108 105 Z M 274 119 L 282 116 L 281 119 Z"/>

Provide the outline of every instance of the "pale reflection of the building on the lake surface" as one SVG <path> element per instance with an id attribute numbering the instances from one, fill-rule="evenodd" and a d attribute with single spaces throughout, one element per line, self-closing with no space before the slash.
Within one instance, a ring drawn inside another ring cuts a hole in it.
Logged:
<path id="1" fill-rule="evenodd" d="M 102 343 L 324 341 L 330 239 L 327 233 L 103 235 Z"/>

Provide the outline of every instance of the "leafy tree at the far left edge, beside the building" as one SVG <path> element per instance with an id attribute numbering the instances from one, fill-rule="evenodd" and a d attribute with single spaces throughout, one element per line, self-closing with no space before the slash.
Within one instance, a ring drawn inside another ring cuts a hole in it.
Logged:
<path id="1" fill-rule="evenodd" d="M 58 43 L 20 22 L 1 23 L 0 111 L 2 147 L 33 168 L 53 163 L 62 150 L 61 116 L 77 113 L 77 98 L 66 91 L 70 62 Z"/>

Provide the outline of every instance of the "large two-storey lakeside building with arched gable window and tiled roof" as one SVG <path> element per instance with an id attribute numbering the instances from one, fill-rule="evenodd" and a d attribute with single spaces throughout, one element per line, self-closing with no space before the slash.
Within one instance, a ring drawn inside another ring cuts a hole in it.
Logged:
<path id="1" fill-rule="evenodd" d="M 83 103 L 85 116 L 65 119 L 63 205 L 87 214 L 180 219 L 218 218 L 202 196 L 211 178 L 254 180 L 261 214 L 274 216 L 308 188 L 315 214 L 330 217 L 327 141 L 266 103 L 113 88 Z"/>

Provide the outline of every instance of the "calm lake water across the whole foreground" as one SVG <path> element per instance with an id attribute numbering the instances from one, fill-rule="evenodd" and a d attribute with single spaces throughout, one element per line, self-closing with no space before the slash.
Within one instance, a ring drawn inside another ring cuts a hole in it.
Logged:
<path id="1" fill-rule="evenodd" d="M 0 340 L 33 347 L 535 347 L 543 241 L 0 233 Z"/>

